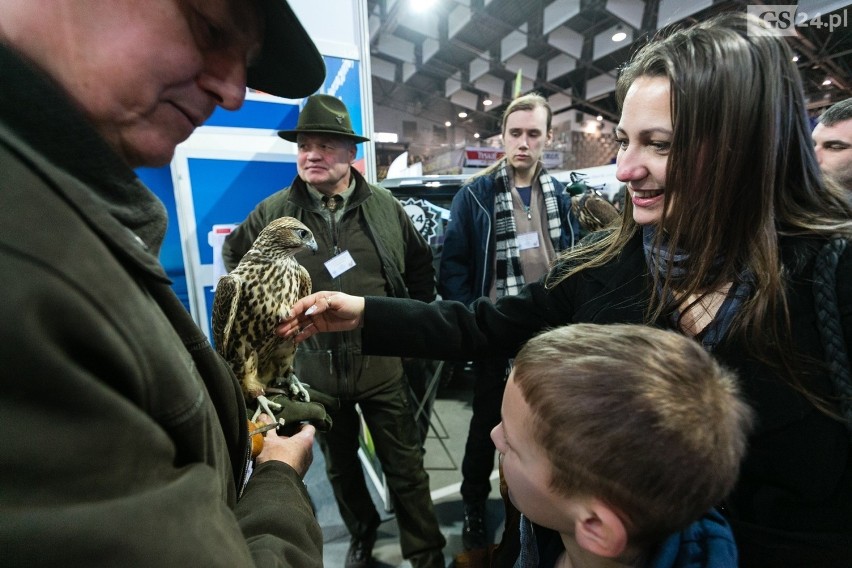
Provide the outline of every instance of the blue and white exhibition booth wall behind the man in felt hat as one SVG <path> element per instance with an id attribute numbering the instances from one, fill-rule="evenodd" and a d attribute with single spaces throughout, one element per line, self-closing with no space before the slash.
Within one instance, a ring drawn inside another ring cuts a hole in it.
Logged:
<path id="1" fill-rule="evenodd" d="M 366 0 L 323 0 L 321 7 L 312 0 L 289 2 L 325 60 L 326 79 L 318 92 L 343 100 L 353 129 L 369 136 L 373 105 Z M 222 274 L 217 247 L 259 201 L 295 178 L 296 145 L 277 131 L 296 126 L 303 101 L 249 90 L 239 111 L 217 109 L 178 146 L 169 166 L 137 170 L 169 212 L 160 259 L 208 337 L 213 290 Z M 356 159 L 356 167 L 374 181 L 373 144 L 359 144 Z"/>

